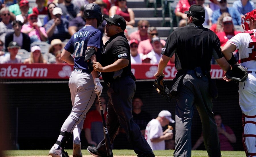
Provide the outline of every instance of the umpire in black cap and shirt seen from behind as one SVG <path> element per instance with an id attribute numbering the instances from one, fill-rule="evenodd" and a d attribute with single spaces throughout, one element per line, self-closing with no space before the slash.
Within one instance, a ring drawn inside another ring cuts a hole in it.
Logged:
<path id="1" fill-rule="evenodd" d="M 188 25 L 177 28 L 168 36 L 154 76 L 164 76 L 163 70 L 170 57 L 175 54 L 175 67 L 178 72 L 172 87 L 172 91 L 176 91 L 174 157 L 191 156 L 191 125 L 195 107 L 203 125 L 204 144 L 208 155 L 220 157 L 218 130 L 212 112 L 212 99 L 217 94 L 210 90 L 216 84 L 210 78 L 210 61 L 213 56 L 225 71 L 229 70 L 230 65 L 221 53 L 217 35 L 202 25 L 205 21 L 205 9 L 201 5 L 191 5 L 185 14 Z"/>

